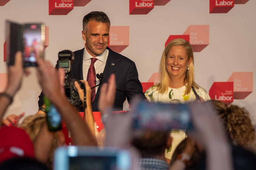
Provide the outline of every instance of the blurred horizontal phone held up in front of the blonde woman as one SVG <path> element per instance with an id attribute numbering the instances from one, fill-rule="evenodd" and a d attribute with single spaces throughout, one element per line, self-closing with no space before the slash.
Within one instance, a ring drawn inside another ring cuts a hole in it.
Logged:
<path id="1" fill-rule="evenodd" d="M 133 129 L 157 131 L 193 129 L 189 106 L 139 101 L 133 112 Z"/>

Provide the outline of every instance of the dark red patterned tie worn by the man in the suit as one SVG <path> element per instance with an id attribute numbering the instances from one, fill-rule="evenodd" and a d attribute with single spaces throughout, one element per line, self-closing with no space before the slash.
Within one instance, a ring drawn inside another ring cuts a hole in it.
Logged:
<path id="1" fill-rule="evenodd" d="M 91 58 L 91 65 L 89 67 L 88 75 L 87 75 L 87 81 L 91 88 L 96 85 L 96 76 L 95 76 L 96 73 L 95 73 L 95 68 L 94 68 L 94 63 L 96 60 L 97 60 L 96 58 Z M 91 89 L 91 104 L 94 101 L 95 95 L 96 95 L 96 90 L 95 90 L 95 88 L 93 88 L 93 89 Z"/>

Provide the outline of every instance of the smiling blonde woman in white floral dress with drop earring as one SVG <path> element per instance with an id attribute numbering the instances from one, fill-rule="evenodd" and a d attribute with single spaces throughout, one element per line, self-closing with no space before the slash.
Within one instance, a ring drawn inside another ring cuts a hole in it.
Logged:
<path id="1" fill-rule="evenodd" d="M 190 43 L 178 38 L 171 41 L 162 54 L 159 65 L 160 82 L 144 93 L 148 101 L 186 103 L 196 100 L 193 86 L 201 100 L 210 100 L 205 89 L 195 83 L 194 55 Z"/>

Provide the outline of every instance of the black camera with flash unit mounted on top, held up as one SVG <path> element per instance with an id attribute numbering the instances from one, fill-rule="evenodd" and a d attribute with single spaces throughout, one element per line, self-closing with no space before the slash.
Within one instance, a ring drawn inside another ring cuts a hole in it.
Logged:
<path id="1" fill-rule="evenodd" d="M 76 79 L 70 79 L 70 77 L 68 76 L 72 70 L 72 64 L 75 59 L 75 54 L 70 50 L 63 50 L 59 52 L 58 57 L 58 68 L 63 68 L 63 70 L 65 71 L 64 88 L 67 99 L 73 106 L 81 106 L 83 102 L 79 98 L 79 94 L 77 89 L 75 88 L 74 83 L 75 81 L 78 82 L 80 87 L 84 89 L 84 95 L 86 96 L 84 83 Z"/>

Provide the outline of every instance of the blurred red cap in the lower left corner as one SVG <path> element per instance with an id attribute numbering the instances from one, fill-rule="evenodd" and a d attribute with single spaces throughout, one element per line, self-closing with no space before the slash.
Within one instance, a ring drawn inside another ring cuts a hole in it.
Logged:
<path id="1" fill-rule="evenodd" d="M 0 129 L 0 163 L 14 157 L 34 158 L 34 146 L 24 129 L 2 127 Z"/>

